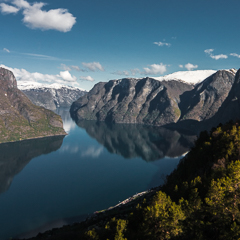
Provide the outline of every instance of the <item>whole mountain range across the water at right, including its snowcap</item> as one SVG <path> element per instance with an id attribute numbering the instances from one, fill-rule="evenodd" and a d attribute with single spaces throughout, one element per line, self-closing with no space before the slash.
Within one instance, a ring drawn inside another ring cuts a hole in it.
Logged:
<path id="1" fill-rule="evenodd" d="M 72 104 L 70 112 L 76 121 L 175 124 L 200 131 L 240 118 L 238 88 L 236 69 L 124 78 L 97 83 Z"/>

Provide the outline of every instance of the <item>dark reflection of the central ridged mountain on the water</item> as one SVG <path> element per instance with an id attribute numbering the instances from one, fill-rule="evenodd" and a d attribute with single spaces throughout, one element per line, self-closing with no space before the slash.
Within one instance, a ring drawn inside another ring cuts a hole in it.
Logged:
<path id="1" fill-rule="evenodd" d="M 145 161 L 181 156 L 196 139 L 195 135 L 181 134 L 177 130 L 145 125 L 79 121 L 78 126 L 110 153 L 125 158 L 141 157 Z"/>

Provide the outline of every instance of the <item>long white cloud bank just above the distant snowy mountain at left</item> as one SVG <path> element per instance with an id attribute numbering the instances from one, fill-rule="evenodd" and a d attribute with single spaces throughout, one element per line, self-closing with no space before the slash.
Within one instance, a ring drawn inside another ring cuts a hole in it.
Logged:
<path id="1" fill-rule="evenodd" d="M 38 72 L 30 73 L 25 69 L 11 68 L 5 65 L 0 65 L 2 68 L 6 68 L 13 72 L 17 81 L 31 81 L 31 82 L 42 82 L 42 83 L 59 83 L 63 85 L 78 85 L 77 78 L 72 76 L 68 71 L 60 72 L 57 75 L 42 74 Z"/>

